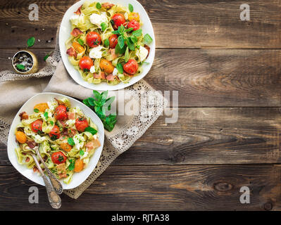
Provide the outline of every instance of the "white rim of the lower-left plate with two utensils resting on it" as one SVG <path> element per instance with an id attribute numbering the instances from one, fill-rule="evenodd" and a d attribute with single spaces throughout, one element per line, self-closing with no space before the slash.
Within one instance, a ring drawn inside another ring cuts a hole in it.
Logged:
<path id="1" fill-rule="evenodd" d="M 63 181 L 61 181 L 61 184 L 63 185 L 63 189 L 71 189 L 71 188 L 76 188 L 82 182 L 84 182 L 89 174 L 92 173 L 94 170 L 94 167 L 96 167 L 96 164 L 99 161 L 99 157 L 101 156 L 101 151 L 104 146 L 104 125 L 102 124 L 101 120 L 99 117 L 86 105 L 83 103 L 80 103 L 80 101 L 75 100 L 74 98 L 70 98 L 68 96 L 64 96 L 62 94 L 56 94 L 56 93 L 41 93 L 33 96 L 30 98 L 22 108 L 18 111 L 17 115 L 15 115 L 15 118 L 13 119 L 13 123 L 11 125 L 11 129 L 8 134 L 8 159 L 10 160 L 11 164 L 15 169 L 20 172 L 20 174 L 23 174 L 27 179 L 30 179 L 31 181 L 41 184 L 42 186 L 44 185 L 43 179 L 41 176 L 39 176 L 37 173 L 33 172 L 32 169 L 28 169 L 25 165 L 20 165 L 18 163 L 17 156 L 15 155 L 15 148 L 18 147 L 18 143 L 15 141 L 15 128 L 17 125 L 20 123 L 20 117 L 19 114 L 23 111 L 25 111 L 27 114 L 32 114 L 33 112 L 33 107 L 34 105 L 38 103 L 46 103 L 47 101 L 50 101 L 51 99 L 54 98 L 68 98 L 71 107 L 79 106 L 83 113 L 91 118 L 92 122 L 96 124 L 96 127 L 98 127 L 99 130 L 99 141 L 101 143 L 101 146 L 96 149 L 94 155 L 89 160 L 89 164 L 85 169 L 82 170 L 82 172 L 79 173 L 74 173 L 73 174 L 73 180 L 70 182 L 70 184 L 64 184 Z"/>

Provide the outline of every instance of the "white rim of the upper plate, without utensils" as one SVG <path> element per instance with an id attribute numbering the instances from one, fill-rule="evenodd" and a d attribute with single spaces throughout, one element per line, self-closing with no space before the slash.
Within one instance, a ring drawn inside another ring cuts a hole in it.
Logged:
<path id="1" fill-rule="evenodd" d="M 73 15 L 75 11 L 77 11 L 77 8 L 79 8 L 86 0 L 78 1 L 73 6 L 68 8 L 68 11 L 66 11 L 65 15 L 63 16 L 63 21 L 61 22 L 61 28 L 59 31 L 59 46 L 61 49 L 61 58 L 63 59 L 63 63 L 65 65 L 66 70 L 68 70 L 68 73 L 71 77 L 80 84 L 81 86 L 85 86 L 88 89 L 94 89 L 98 91 L 113 91 L 118 89 L 124 89 L 127 86 L 130 86 L 132 84 L 135 84 L 140 79 L 142 79 L 151 69 L 152 63 L 154 62 L 154 56 L 155 56 L 155 37 L 154 37 L 154 30 L 151 24 L 151 21 L 149 20 L 149 15 L 147 15 L 144 7 L 142 7 L 141 4 L 139 4 L 136 0 L 99 0 L 99 2 L 110 2 L 113 4 L 119 4 L 122 6 L 128 6 L 128 4 L 132 4 L 134 6 L 134 12 L 139 13 L 140 19 L 142 20 L 142 31 L 143 34 L 149 34 L 153 41 L 151 44 L 149 44 L 150 53 L 149 57 L 146 59 L 146 62 L 149 63 L 148 65 L 142 65 L 142 68 L 144 69 L 143 72 L 140 75 L 137 75 L 136 77 L 132 77 L 130 81 L 127 84 L 124 84 L 123 82 L 120 82 L 120 84 L 111 86 L 106 84 L 106 82 L 102 82 L 101 84 L 89 84 L 88 82 L 85 82 L 85 80 L 82 79 L 80 73 L 73 68 L 73 65 L 68 61 L 68 56 L 66 55 L 67 49 L 65 48 L 65 41 L 69 39 L 71 30 L 70 25 L 70 17 Z M 92 0 L 94 2 L 94 0 Z M 98 1 L 98 0 L 96 0 Z"/>

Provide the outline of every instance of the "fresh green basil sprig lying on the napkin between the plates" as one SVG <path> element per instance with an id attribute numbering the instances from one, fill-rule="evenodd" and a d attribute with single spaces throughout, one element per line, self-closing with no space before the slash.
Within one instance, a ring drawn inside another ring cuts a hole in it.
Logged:
<path id="1" fill-rule="evenodd" d="M 122 64 L 120 65 L 122 67 Z M 111 103 L 113 103 L 115 96 L 112 96 L 111 98 L 107 98 L 108 91 L 104 91 L 101 93 L 99 93 L 99 91 L 93 91 L 93 94 L 94 94 L 94 98 L 86 98 L 83 100 L 83 103 L 87 105 L 89 108 L 92 108 L 92 110 L 94 110 L 96 115 L 98 115 L 101 121 L 103 122 L 104 128 L 106 130 L 112 131 L 115 126 L 115 123 L 117 122 L 116 115 L 110 114 L 106 116 L 106 111 L 110 110 Z M 90 129 L 90 128 L 87 127 L 86 129 Z"/>

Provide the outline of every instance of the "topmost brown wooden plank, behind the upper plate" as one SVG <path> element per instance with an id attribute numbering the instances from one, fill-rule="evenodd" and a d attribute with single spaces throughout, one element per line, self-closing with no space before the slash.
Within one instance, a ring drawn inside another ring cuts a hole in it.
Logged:
<path id="1" fill-rule="evenodd" d="M 56 25 L 75 0 L 38 0 L 39 21 L 28 19 L 29 1 L 0 3 L 0 48 L 24 47 L 30 35 L 42 41 L 36 47 L 54 48 Z M 158 48 L 280 49 L 279 1 L 247 1 L 250 21 L 241 21 L 244 1 L 141 0 L 151 18 Z M 8 25 L 6 25 L 8 23 Z M 42 31 L 42 29 L 45 29 Z M 37 30 L 35 30 L 37 29 Z M 167 37 L 173 34 L 173 37 Z M 10 37 L 10 38 L 6 38 Z M 11 41 L 11 39 L 13 41 Z"/>

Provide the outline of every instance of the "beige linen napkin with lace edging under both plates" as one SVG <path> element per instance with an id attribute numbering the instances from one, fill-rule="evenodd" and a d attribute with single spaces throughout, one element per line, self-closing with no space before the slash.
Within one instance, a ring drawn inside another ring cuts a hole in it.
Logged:
<path id="1" fill-rule="evenodd" d="M 56 53 L 58 56 L 57 49 L 55 55 Z M 61 61 L 57 65 L 56 61 L 60 57 L 55 59 L 48 58 L 46 68 L 27 77 L 15 75 L 11 71 L 0 72 L 0 140 L 2 142 L 6 143 L 9 127 L 19 108 L 35 94 L 42 91 L 56 92 L 80 100 L 92 96 L 92 90 L 74 82 Z M 118 122 L 113 131 L 105 132 L 104 149 L 92 174 L 77 188 L 64 191 L 71 198 L 78 198 L 118 155 L 130 148 L 144 134 L 163 112 L 162 94 L 154 91 L 143 79 L 123 91 L 109 91 L 108 96 L 116 96 L 116 106 L 113 108 L 118 109 Z M 126 115 L 124 108 L 130 111 L 130 115 Z"/>

